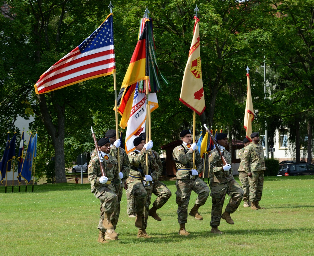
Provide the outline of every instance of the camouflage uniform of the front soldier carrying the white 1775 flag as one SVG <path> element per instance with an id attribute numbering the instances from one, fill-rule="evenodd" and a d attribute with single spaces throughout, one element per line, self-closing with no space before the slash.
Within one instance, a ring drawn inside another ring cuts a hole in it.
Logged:
<path id="1" fill-rule="evenodd" d="M 131 169 L 129 177 L 127 178 L 126 194 L 128 199 L 131 199 L 132 197 L 134 198 L 137 214 L 139 216 L 143 214 L 141 229 L 146 229 L 147 227 L 148 211 L 152 196 L 152 182 L 149 182 L 149 186 L 143 185 L 143 177 L 146 174 L 146 154 L 147 151 L 145 148 L 143 148 L 141 152 L 134 150 L 133 152 L 127 154 L 131 164 Z M 149 154 L 148 157 L 148 174 L 152 176 L 154 181 L 155 179 L 158 179 L 159 170 L 154 157 L 151 154 Z M 132 205 L 129 205 L 130 202 L 132 202 L 132 200 L 127 202 L 127 208 L 133 207 L 133 202 Z"/>

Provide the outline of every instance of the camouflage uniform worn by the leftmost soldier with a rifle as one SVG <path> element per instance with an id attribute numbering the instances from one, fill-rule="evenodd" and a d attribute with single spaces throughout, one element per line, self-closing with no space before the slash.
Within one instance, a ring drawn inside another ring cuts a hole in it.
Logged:
<path id="1" fill-rule="evenodd" d="M 116 187 L 120 186 L 120 177 L 117 171 L 118 162 L 116 158 L 111 155 L 108 156 L 108 160 L 103 158 L 103 167 L 105 171 L 105 176 L 108 178 L 111 184 L 101 184 L 99 178 L 102 176 L 100 171 L 100 164 L 98 156 L 92 153 L 91 159 L 88 165 L 88 180 L 90 182 L 91 192 L 94 193 L 96 198 L 100 200 L 100 220 L 98 224 L 98 229 L 101 232 L 106 232 L 103 227 L 104 213 L 110 213 L 110 220 L 114 227 L 118 221 L 116 217 L 116 211 L 118 206 L 118 196 Z"/>

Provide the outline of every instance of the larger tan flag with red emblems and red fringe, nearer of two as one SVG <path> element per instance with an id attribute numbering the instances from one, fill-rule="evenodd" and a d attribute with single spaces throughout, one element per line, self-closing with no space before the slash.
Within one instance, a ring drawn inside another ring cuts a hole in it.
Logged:
<path id="1" fill-rule="evenodd" d="M 182 79 L 180 101 L 198 115 L 201 115 L 205 110 L 205 98 L 200 57 L 199 19 L 197 17 L 194 17 L 194 19 L 194 34 Z"/>

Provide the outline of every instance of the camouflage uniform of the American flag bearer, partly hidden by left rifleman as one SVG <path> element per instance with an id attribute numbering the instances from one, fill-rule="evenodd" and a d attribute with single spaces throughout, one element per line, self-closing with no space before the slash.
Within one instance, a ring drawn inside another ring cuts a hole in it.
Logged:
<path id="1" fill-rule="evenodd" d="M 110 155 L 115 157 L 116 159 L 118 159 L 118 151 L 117 151 L 116 146 L 114 146 L 114 145 L 111 146 Z M 121 180 L 120 186 L 118 186 L 116 188 L 118 191 L 118 209 L 116 212 L 117 220 L 119 219 L 119 216 L 120 216 L 120 202 L 122 199 L 124 183 L 127 181 L 127 176 L 129 175 L 129 171 L 130 171 L 130 167 L 131 167 L 127 153 L 121 147 L 119 147 L 119 162 L 120 162 L 119 163 L 120 164 L 120 172 L 123 173 L 123 178 Z"/>

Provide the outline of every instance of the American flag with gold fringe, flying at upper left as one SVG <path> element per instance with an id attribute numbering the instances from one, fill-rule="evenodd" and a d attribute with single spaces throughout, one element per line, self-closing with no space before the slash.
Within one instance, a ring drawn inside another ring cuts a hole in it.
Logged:
<path id="1" fill-rule="evenodd" d="M 51 92 L 116 71 L 113 18 L 107 19 L 73 51 L 43 73 L 34 85 L 37 94 Z"/>

